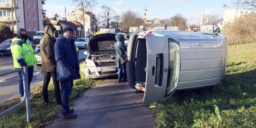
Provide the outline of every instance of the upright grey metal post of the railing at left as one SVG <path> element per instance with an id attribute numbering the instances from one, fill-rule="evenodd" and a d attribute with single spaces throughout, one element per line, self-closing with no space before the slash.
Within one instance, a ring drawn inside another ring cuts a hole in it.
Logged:
<path id="1" fill-rule="evenodd" d="M 30 104 L 29 104 L 29 87 L 28 87 L 28 67 L 23 67 L 25 77 L 23 77 L 24 94 L 26 93 L 26 110 L 27 110 L 27 122 L 30 123 Z M 24 81 L 25 80 L 25 81 Z M 25 90 L 26 88 L 26 90 Z"/>

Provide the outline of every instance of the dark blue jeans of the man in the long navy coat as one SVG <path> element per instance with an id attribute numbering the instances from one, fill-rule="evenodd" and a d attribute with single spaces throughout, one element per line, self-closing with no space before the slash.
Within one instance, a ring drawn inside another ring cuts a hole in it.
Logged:
<path id="1" fill-rule="evenodd" d="M 69 96 L 72 92 L 73 81 L 60 81 L 62 98 L 61 98 L 61 114 L 67 116 L 70 114 L 69 111 Z"/>

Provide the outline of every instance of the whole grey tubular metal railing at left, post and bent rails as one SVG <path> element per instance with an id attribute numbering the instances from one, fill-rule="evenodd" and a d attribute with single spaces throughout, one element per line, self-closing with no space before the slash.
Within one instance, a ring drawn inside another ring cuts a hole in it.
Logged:
<path id="1" fill-rule="evenodd" d="M 1 77 L 1 76 L 4 76 L 4 75 L 15 73 L 15 72 L 21 72 L 22 76 L 23 76 L 23 87 L 24 87 L 24 91 L 25 91 L 23 100 L 20 103 L 14 105 L 12 108 L 10 108 L 8 110 L 5 110 L 4 112 L 0 113 L 0 117 L 4 116 L 5 114 L 7 114 L 11 111 L 13 111 L 14 109 L 18 108 L 20 105 L 22 105 L 26 101 L 27 122 L 30 123 L 30 104 L 29 104 L 29 90 L 28 90 L 28 76 L 27 76 L 28 67 L 25 66 L 23 69 L 24 69 L 24 71 L 22 69 L 15 69 L 15 70 L 0 73 L 0 77 Z"/>

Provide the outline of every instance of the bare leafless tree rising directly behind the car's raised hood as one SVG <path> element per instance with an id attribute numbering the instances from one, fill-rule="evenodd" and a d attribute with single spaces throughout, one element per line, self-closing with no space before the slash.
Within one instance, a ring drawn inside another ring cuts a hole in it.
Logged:
<path id="1" fill-rule="evenodd" d="M 117 16 L 116 12 L 106 5 L 101 6 L 101 9 L 103 9 L 103 26 L 105 26 L 106 28 L 110 28 L 110 26 L 113 24 L 112 20 Z"/>

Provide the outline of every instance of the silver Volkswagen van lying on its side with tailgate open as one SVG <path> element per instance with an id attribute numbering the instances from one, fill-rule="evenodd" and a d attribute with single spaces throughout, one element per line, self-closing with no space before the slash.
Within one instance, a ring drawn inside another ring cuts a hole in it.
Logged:
<path id="1" fill-rule="evenodd" d="M 209 87 L 224 77 L 227 38 L 215 33 L 152 29 L 131 34 L 127 79 L 145 91 L 143 105 L 169 98 L 175 90 Z"/>

